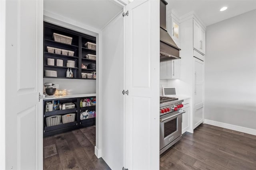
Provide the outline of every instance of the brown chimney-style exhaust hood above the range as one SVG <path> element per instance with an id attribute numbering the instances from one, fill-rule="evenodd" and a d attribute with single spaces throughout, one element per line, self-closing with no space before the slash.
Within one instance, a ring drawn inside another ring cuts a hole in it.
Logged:
<path id="1" fill-rule="evenodd" d="M 167 4 L 165 0 L 160 0 L 160 62 L 180 59 L 180 48 L 166 30 Z"/>

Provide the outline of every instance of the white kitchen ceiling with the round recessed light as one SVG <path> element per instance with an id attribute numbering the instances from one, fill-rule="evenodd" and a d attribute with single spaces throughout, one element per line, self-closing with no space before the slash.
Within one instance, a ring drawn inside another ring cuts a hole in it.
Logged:
<path id="1" fill-rule="evenodd" d="M 166 12 L 172 10 L 177 17 L 182 17 L 194 11 L 206 25 L 243 14 L 256 9 L 256 0 L 166 0 Z M 223 6 L 227 10 L 220 12 Z M 256 17 L 256 16 L 255 16 Z"/>

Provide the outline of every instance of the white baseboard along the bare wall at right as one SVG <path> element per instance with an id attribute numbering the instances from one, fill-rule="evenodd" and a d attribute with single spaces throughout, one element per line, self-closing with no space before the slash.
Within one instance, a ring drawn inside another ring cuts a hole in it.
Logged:
<path id="1" fill-rule="evenodd" d="M 208 124 L 208 125 L 213 125 L 213 126 L 218 126 L 218 127 L 230 129 L 230 130 L 233 130 L 233 131 L 248 133 L 250 135 L 256 135 L 256 129 L 250 129 L 250 128 L 247 128 L 247 127 L 231 125 L 231 124 L 228 124 L 228 123 L 222 123 L 222 122 L 219 122 L 219 121 L 213 121 L 213 120 L 208 120 L 208 119 L 204 119 L 204 123 Z"/>

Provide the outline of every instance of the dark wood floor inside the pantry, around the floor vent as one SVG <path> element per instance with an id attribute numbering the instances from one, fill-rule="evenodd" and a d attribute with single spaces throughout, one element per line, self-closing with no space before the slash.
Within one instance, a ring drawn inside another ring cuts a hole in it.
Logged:
<path id="1" fill-rule="evenodd" d="M 44 170 L 110 170 L 94 154 L 95 126 L 44 138 L 44 147 L 54 144 L 57 154 L 44 158 Z"/>

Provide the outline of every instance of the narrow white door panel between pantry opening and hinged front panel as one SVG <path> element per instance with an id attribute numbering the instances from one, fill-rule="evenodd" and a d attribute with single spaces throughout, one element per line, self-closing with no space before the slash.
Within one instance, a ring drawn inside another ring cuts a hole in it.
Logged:
<path id="1" fill-rule="evenodd" d="M 112 170 L 124 166 L 124 18 L 118 15 L 102 30 L 102 158 Z"/>

